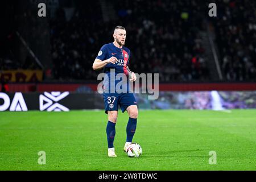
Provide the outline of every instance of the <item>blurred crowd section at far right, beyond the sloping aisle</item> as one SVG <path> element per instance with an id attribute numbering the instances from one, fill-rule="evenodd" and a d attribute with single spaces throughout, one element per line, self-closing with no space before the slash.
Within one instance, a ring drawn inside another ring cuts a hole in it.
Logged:
<path id="1" fill-rule="evenodd" d="M 217 1 L 213 20 L 225 80 L 256 80 L 256 2 Z"/>

